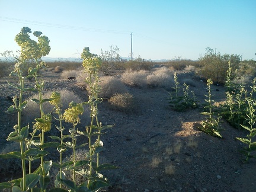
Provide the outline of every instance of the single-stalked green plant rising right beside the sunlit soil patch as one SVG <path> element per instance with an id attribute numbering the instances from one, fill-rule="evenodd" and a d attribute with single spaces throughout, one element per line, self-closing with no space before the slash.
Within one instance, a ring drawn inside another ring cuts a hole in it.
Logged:
<path id="1" fill-rule="evenodd" d="M 208 95 L 205 95 L 207 97 L 207 99 L 205 101 L 207 102 L 208 105 L 206 105 L 204 107 L 207 111 L 204 111 L 204 112 L 201 113 L 204 116 L 208 116 L 208 117 L 206 117 L 206 120 L 202 121 L 201 126 L 199 126 L 197 128 L 200 129 L 201 131 L 209 134 L 209 135 L 222 137 L 220 135 L 220 130 L 221 130 L 220 119 L 221 119 L 221 116 L 216 116 L 216 114 L 214 112 L 215 107 L 213 106 L 213 103 L 215 101 L 212 100 L 212 94 L 211 94 L 211 89 L 210 89 L 210 85 L 212 85 L 212 84 L 213 84 L 212 79 L 208 79 L 207 80 Z"/>

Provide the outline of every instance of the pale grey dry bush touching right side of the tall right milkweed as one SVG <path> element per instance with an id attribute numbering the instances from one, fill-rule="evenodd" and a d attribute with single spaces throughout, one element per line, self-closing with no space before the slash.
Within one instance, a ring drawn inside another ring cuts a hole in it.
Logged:
<path id="1" fill-rule="evenodd" d="M 116 93 L 128 92 L 126 85 L 123 84 L 121 79 L 114 78 L 113 76 L 102 76 L 99 85 L 101 87 L 99 96 L 102 98 L 110 98 Z"/>

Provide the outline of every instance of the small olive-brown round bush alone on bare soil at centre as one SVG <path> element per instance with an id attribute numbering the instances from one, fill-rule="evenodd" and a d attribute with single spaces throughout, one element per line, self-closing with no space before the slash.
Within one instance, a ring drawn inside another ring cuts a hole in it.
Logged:
<path id="1" fill-rule="evenodd" d="M 108 102 L 114 110 L 122 111 L 125 113 L 131 113 L 135 111 L 135 100 L 132 94 L 115 94 Z"/>

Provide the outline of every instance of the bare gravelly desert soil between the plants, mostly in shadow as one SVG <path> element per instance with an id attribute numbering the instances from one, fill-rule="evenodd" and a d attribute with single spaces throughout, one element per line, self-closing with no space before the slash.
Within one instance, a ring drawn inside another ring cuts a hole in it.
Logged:
<path id="1" fill-rule="evenodd" d="M 194 91 L 200 104 L 207 94 L 206 83 L 194 78 L 191 72 L 178 72 L 178 78 L 193 79 Z M 60 79 L 60 74 L 45 72 L 46 89 L 66 88 L 87 101 L 87 92 L 76 79 Z M 12 102 L 7 96 L 18 94 L 6 81 L 0 79 L 0 149 L 12 132 L 15 115 L 5 114 Z M 26 81 L 33 86 L 34 82 Z M 102 136 L 104 162 L 120 169 L 106 172 L 111 187 L 103 191 L 256 191 L 256 164 L 250 159 L 242 164 L 239 152 L 244 145 L 235 137 L 246 132 L 234 129 L 225 120 L 223 139 L 207 135 L 197 129 L 205 120 L 201 108 L 176 112 L 168 106 L 169 93 L 164 88 L 128 87 L 136 99 L 136 113 L 123 113 L 111 109 L 107 100 L 99 105 L 100 121 L 114 124 Z M 225 101 L 225 89 L 212 86 L 213 100 Z M 25 95 L 28 97 L 29 95 Z M 0 167 L 5 159 L 0 159 Z M 0 171 L 1 182 L 15 178 L 15 174 Z M 16 176 L 17 177 L 17 176 Z"/>

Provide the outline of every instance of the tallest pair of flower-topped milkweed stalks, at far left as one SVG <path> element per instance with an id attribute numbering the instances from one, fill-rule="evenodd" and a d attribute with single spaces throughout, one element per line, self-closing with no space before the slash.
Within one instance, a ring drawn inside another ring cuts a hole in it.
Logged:
<path id="1" fill-rule="evenodd" d="M 43 148 L 36 149 L 31 148 L 31 143 L 33 143 L 33 138 L 35 137 L 36 130 L 30 133 L 29 137 L 29 126 L 21 127 L 21 113 L 27 105 L 27 101 L 23 101 L 23 94 L 25 91 L 39 91 L 43 89 L 43 82 L 37 80 L 37 72 L 40 68 L 44 66 L 41 62 L 41 56 L 46 56 L 50 52 L 49 39 L 46 36 L 41 36 L 40 31 L 34 31 L 33 35 L 37 37 L 38 42 L 30 39 L 31 30 L 28 27 L 21 28 L 20 33 L 15 36 L 15 41 L 18 46 L 21 47 L 20 56 L 15 57 L 17 63 L 15 64 L 14 71 L 11 72 L 10 76 L 17 76 L 19 79 L 19 85 L 10 84 L 12 87 L 20 91 L 20 98 L 14 98 L 14 105 L 8 108 L 7 113 L 18 113 L 18 123 L 14 126 L 15 132 L 11 132 L 7 138 L 9 141 L 14 141 L 20 143 L 20 152 L 10 152 L 8 154 L 2 154 L 1 158 L 19 158 L 21 159 L 23 177 L 20 180 L 11 181 L 8 184 L 4 184 L 5 188 L 12 188 L 12 191 L 27 191 L 33 190 L 32 188 L 36 186 L 38 181 L 40 182 L 41 191 L 46 189 L 47 184 L 44 182 L 50 167 L 50 164 L 44 164 L 41 161 L 39 172 L 31 173 L 31 161 L 37 158 L 43 160 L 43 156 L 47 154 Z M 35 88 L 25 88 L 24 79 L 28 78 L 36 79 Z M 40 103 L 41 119 L 38 119 L 34 127 L 37 130 L 48 131 L 50 129 L 50 117 L 44 116 L 42 103 L 47 100 L 43 100 L 40 96 L 40 100 L 34 100 L 36 103 Z M 39 135 L 41 138 L 41 143 L 43 143 L 43 136 Z M 35 143 L 35 142 L 34 142 Z M 38 146 L 41 146 L 41 143 Z M 27 146 L 27 148 L 25 148 Z M 25 161 L 29 162 L 29 174 L 26 174 Z"/>

